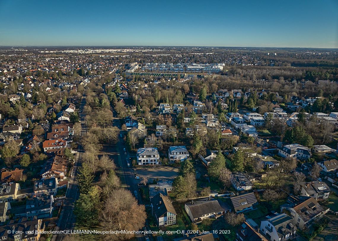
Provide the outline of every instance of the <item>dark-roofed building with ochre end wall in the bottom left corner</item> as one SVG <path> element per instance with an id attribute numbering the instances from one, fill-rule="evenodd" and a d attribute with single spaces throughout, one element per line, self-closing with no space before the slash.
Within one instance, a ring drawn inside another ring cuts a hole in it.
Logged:
<path id="1" fill-rule="evenodd" d="M 41 234 L 45 231 L 45 223 L 42 219 L 31 219 L 27 221 L 26 217 L 19 219 L 18 223 L 9 222 L 9 224 L 0 227 L 1 240 L 8 241 L 39 241 Z"/>

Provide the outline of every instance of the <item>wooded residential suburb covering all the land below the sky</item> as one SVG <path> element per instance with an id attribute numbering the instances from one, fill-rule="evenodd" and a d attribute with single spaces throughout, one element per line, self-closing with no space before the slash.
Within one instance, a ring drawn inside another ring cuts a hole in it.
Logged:
<path id="1" fill-rule="evenodd" d="M 0 47 L 0 80 L 1 240 L 338 240 L 336 50 Z"/>

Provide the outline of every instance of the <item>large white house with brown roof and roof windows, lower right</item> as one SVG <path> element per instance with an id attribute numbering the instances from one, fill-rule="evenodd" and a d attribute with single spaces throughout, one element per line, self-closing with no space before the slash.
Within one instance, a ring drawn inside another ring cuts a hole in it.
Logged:
<path id="1" fill-rule="evenodd" d="M 284 209 L 289 210 L 293 222 L 300 229 L 303 229 L 304 226 L 309 226 L 312 221 L 322 218 L 330 210 L 320 206 L 313 197 L 294 196 L 291 194 L 286 202 L 281 205 L 281 211 Z"/>

